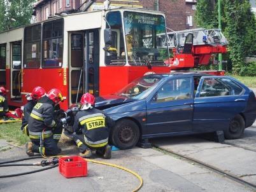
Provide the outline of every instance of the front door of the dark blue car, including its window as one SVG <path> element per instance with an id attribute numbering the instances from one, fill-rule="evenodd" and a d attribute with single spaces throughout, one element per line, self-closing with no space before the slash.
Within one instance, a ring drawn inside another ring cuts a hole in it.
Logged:
<path id="1" fill-rule="evenodd" d="M 168 79 L 146 102 L 146 132 L 164 135 L 192 130 L 192 78 Z"/>

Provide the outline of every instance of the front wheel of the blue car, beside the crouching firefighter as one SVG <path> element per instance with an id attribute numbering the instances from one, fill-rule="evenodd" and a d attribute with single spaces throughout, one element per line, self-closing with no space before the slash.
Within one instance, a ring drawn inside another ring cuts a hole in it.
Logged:
<path id="1" fill-rule="evenodd" d="M 119 149 L 134 147 L 139 141 L 139 127 L 132 120 L 120 120 L 111 132 L 111 140 Z"/>

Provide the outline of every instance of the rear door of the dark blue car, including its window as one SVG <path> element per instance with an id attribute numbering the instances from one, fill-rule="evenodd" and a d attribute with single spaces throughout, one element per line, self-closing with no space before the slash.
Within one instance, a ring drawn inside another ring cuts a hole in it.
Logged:
<path id="1" fill-rule="evenodd" d="M 245 110 L 245 89 L 225 76 L 204 76 L 194 99 L 193 130 L 224 130 L 236 114 Z"/>

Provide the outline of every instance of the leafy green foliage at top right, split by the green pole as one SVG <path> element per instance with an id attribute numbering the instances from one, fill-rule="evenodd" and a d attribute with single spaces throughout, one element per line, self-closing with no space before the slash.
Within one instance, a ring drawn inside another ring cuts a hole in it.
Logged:
<path id="1" fill-rule="evenodd" d="M 248 0 L 220 0 L 222 31 L 229 41 L 232 71 L 238 74 L 245 57 L 256 55 L 256 21 Z M 207 29 L 218 27 L 218 0 L 197 0 L 196 22 Z"/>

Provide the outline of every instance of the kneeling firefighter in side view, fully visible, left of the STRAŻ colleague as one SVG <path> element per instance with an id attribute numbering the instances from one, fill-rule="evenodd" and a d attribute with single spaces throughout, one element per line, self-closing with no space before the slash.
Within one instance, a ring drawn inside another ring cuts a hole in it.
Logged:
<path id="1" fill-rule="evenodd" d="M 63 101 L 64 98 L 60 90 L 53 88 L 34 106 L 28 124 L 31 142 L 26 143 L 26 153 L 29 156 L 33 156 L 34 153 L 41 153 L 46 156 L 60 153 L 61 150 L 54 139 L 53 130 L 61 127 L 61 123 L 54 120 L 53 114 L 54 107 Z M 60 135 L 61 133 L 59 137 Z"/>

